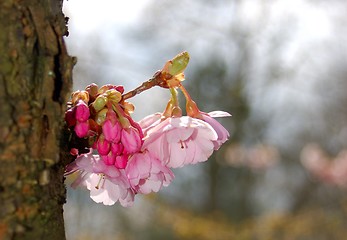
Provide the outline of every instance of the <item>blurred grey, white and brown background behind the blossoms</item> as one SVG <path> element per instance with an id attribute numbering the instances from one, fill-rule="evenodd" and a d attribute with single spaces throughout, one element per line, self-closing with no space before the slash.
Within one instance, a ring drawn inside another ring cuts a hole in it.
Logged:
<path id="1" fill-rule="evenodd" d="M 233 115 L 209 161 L 131 208 L 67 186 L 67 239 L 345 239 L 346 12 L 343 0 L 64 1 L 75 90 L 131 90 L 186 50 L 199 108 Z M 135 120 L 168 98 L 134 97 Z"/>

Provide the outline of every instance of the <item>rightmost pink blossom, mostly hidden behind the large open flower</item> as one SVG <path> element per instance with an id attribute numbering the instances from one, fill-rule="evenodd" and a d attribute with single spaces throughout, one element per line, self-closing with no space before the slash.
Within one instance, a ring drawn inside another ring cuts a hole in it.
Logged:
<path id="1" fill-rule="evenodd" d="M 226 142 L 229 138 L 229 132 L 220 124 L 218 121 L 216 121 L 214 118 L 216 117 L 230 117 L 231 115 L 227 112 L 223 111 L 213 111 L 209 113 L 201 113 L 202 119 L 210 124 L 212 128 L 216 131 L 218 135 L 218 139 L 213 142 L 214 144 L 214 150 L 218 150 L 220 146 Z"/>

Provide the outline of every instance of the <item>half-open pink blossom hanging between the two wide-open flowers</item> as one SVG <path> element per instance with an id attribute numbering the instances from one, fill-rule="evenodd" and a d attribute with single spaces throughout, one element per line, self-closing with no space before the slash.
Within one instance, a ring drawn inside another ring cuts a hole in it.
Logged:
<path id="1" fill-rule="evenodd" d="M 135 153 L 125 169 L 132 188 L 143 194 L 158 192 L 174 178 L 172 171 L 163 166 L 150 152 Z"/>

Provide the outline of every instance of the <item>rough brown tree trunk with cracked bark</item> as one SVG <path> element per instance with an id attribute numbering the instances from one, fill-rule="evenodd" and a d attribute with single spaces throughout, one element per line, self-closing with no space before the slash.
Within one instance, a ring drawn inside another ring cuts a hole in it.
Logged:
<path id="1" fill-rule="evenodd" d="M 66 33 L 60 0 L 0 1 L 0 239 L 65 239 Z"/>

